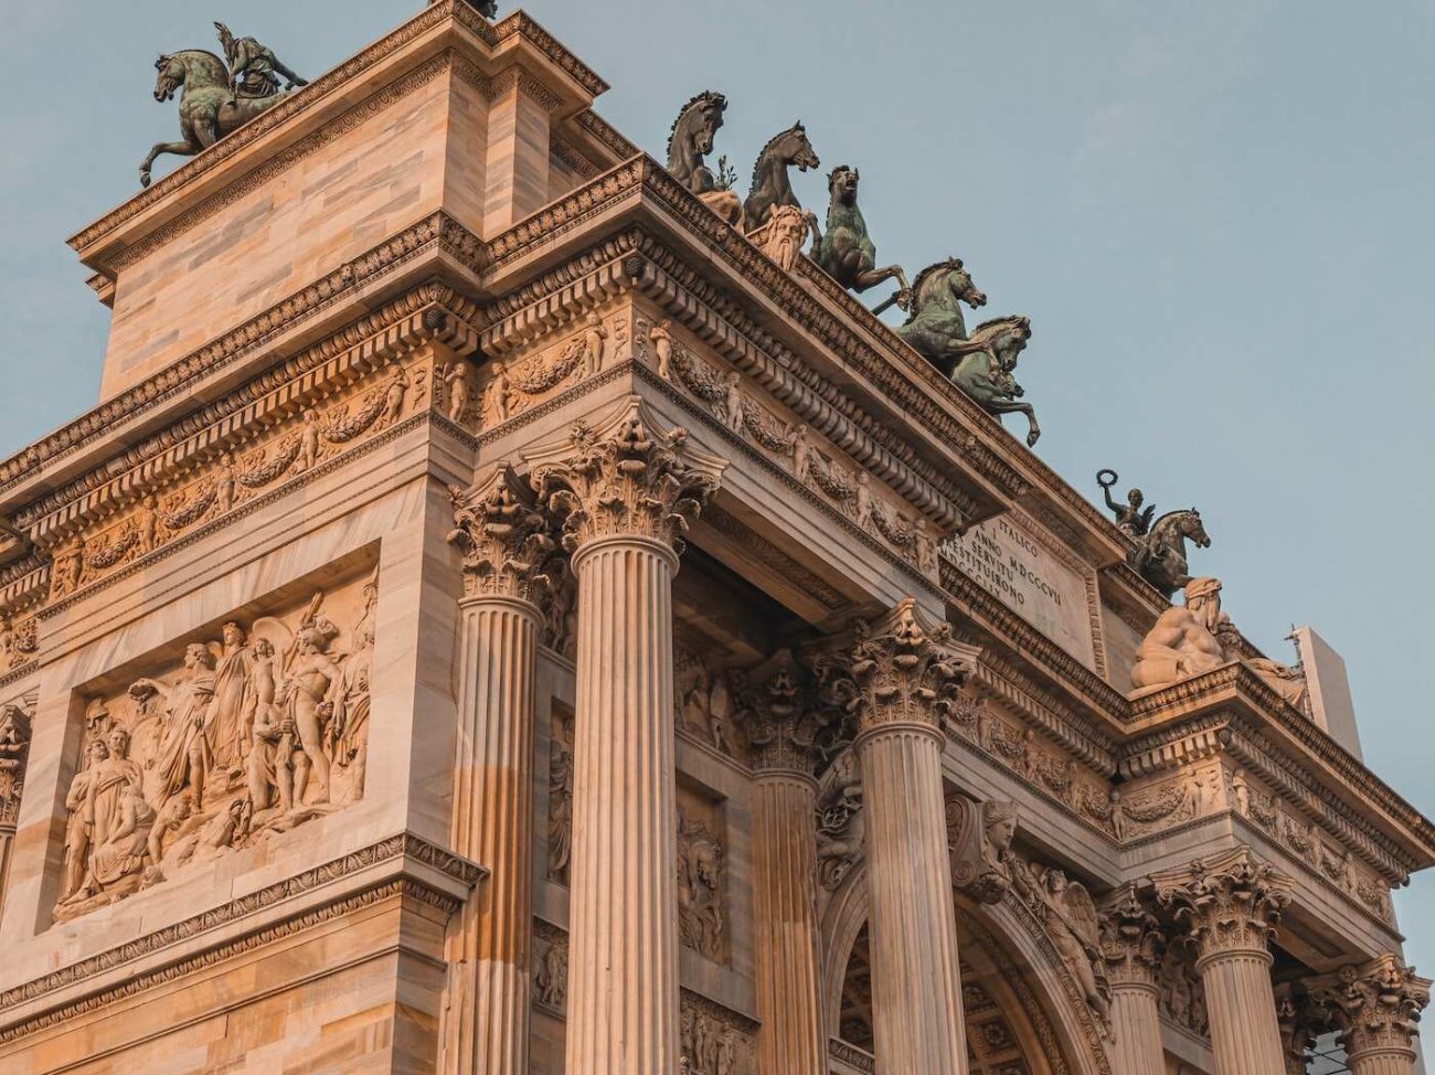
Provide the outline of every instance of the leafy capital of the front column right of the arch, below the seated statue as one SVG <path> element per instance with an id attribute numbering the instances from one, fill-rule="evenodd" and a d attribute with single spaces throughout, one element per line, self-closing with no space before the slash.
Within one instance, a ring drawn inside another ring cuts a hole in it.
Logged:
<path id="1" fill-rule="evenodd" d="M 1293 881 L 1238 847 L 1152 876 L 1157 901 L 1190 927 L 1201 959 L 1269 952 Z"/>

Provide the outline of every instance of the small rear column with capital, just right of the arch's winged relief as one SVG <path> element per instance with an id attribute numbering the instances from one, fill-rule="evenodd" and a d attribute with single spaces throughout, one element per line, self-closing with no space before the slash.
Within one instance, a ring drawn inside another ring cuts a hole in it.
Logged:
<path id="1" fill-rule="evenodd" d="M 1101 943 L 1111 982 L 1112 1075 L 1148 1075 L 1164 1071 L 1161 1009 L 1157 967 L 1165 939 L 1161 923 L 1134 887 L 1106 901 L 1101 916 Z"/>

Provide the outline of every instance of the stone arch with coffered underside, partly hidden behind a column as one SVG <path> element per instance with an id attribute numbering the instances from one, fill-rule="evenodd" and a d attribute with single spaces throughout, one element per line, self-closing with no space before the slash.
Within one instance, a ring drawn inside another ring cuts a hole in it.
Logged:
<path id="1" fill-rule="evenodd" d="M 996 906 L 954 898 L 973 1075 L 1111 1075 L 1105 1028 L 1030 911 L 1012 896 Z M 867 920 L 860 863 L 821 921 L 822 1023 L 831 1038 L 844 1038 L 844 989 Z"/>

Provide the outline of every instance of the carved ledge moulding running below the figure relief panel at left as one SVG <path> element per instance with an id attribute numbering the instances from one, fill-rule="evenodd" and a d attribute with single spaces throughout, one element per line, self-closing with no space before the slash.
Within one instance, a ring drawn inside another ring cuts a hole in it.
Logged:
<path id="1" fill-rule="evenodd" d="M 86 979 L 123 967 L 156 953 L 162 953 L 175 944 L 189 943 L 195 937 L 211 933 L 224 926 L 253 916 L 270 907 L 294 901 L 310 891 L 331 886 L 346 877 L 359 874 L 386 863 L 403 863 L 412 860 L 416 864 L 438 870 L 466 888 L 472 888 L 482 880 L 485 870 L 445 848 L 430 844 L 413 834 L 405 832 L 389 837 L 377 844 L 360 848 L 340 858 L 330 860 L 321 865 L 306 870 L 294 877 L 276 881 L 265 888 L 260 888 L 227 904 L 194 914 L 164 929 L 146 933 L 135 940 L 106 949 L 95 956 L 89 956 L 72 963 L 60 970 L 52 972 L 23 985 L 0 992 L 0 1013 L 10 1012 L 22 1005 L 40 1000 L 50 993 L 83 983 Z M 377 878 L 375 884 L 359 893 L 352 893 L 337 901 L 311 909 L 296 917 L 264 926 L 254 931 L 235 937 L 217 947 L 207 949 L 194 956 L 179 959 L 156 970 L 129 977 L 118 986 L 96 990 L 79 1000 L 27 1016 L 24 1022 L 0 1029 L 0 1042 L 13 1041 L 26 1033 L 50 1026 L 63 1019 L 70 1019 L 83 1012 L 102 1008 L 116 999 L 133 996 L 164 982 L 182 979 L 195 970 L 212 966 L 234 954 L 250 952 L 257 947 L 278 940 L 291 933 L 310 929 L 323 921 L 342 917 L 353 910 L 377 903 L 393 896 L 412 896 L 452 914 L 459 907 L 459 901 L 449 893 L 433 887 L 420 876 L 415 876 L 408 867 L 402 867 L 399 877 Z"/>

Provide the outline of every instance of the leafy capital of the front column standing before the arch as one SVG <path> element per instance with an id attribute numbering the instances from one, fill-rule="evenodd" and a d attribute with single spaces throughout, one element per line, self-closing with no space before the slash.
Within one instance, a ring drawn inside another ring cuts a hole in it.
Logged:
<path id="1" fill-rule="evenodd" d="M 979 653 L 904 597 L 877 623 L 860 621 L 851 646 L 819 654 L 812 666 L 861 732 L 894 723 L 940 731 Z"/>

